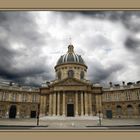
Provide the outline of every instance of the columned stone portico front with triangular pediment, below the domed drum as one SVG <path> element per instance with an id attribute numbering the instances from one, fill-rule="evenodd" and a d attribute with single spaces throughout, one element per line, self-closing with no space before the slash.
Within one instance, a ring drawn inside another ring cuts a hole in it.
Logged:
<path id="1" fill-rule="evenodd" d="M 101 91 L 101 87 L 94 87 L 90 83 L 75 78 L 66 78 L 60 82 L 57 81 L 56 83 L 48 85 L 48 87 L 41 88 L 40 115 L 96 115 L 96 112 L 102 110 L 100 101 Z"/>

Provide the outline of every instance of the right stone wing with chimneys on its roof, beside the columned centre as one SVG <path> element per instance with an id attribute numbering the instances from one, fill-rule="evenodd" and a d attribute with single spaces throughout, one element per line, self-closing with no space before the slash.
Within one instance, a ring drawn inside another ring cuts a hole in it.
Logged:
<path id="1" fill-rule="evenodd" d="M 140 84 L 103 89 L 102 106 L 105 118 L 140 118 Z"/>

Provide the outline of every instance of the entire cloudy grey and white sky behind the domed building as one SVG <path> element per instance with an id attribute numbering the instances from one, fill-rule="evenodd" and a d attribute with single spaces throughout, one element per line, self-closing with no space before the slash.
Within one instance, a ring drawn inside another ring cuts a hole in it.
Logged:
<path id="1" fill-rule="evenodd" d="M 140 80 L 140 11 L 1 11 L 0 81 L 54 80 L 70 37 L 93 83 Z"/>

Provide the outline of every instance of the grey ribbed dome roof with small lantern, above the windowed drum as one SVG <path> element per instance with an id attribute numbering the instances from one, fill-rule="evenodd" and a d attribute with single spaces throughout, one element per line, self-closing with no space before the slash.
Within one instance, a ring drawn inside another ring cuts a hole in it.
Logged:
<path id="1" fill-rule="evenodd" d="M 62 55 L 57 61 L 57 65 L 67 64 L 67 63 L 77 63 L 86 66 L 81 55 L 74 53 L 74 47 L 71 44 L 68 46 L 68 52 Z"/>

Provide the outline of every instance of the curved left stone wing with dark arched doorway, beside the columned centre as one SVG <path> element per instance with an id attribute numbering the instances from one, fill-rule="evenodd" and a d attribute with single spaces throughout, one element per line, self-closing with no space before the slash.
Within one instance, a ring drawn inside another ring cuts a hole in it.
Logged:
<path id="1" fill-rule="evenodd" d="M 0 118 L 35 118 L 39 90 L 0 86 Z"/>

